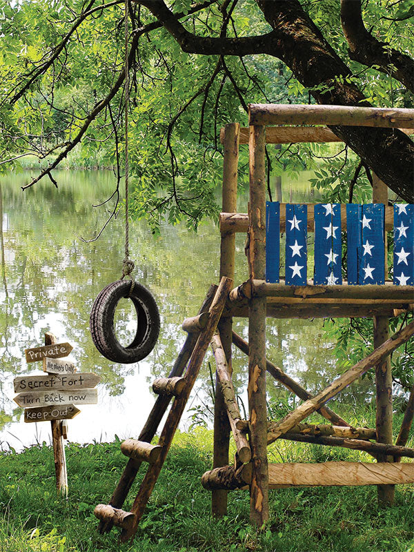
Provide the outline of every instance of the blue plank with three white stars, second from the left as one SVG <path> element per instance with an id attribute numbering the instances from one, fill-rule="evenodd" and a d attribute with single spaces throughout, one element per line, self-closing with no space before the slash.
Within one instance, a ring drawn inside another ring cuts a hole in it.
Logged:
<path id="1" fill-rule="evenodd" d="M 304 286 L 307 277 L 308 207 L 286 204 L 286 285 Z"/>

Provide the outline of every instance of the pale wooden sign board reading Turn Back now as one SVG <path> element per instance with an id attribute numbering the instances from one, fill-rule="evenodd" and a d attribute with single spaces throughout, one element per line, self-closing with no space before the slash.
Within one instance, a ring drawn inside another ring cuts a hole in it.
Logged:
<path id="1" fill-rule="evenodd" d="M 85 389 L 77 391 L 30 391 L 28 393 L 19 393 L 14 397 L 14 401 L 19 406 L 48 406 L 59 404 L 97 404 L 97 389 Z M 61 418 L 63 419 L 63 418 Z M 59 418 L 55 418 L 59 420 Z"/>

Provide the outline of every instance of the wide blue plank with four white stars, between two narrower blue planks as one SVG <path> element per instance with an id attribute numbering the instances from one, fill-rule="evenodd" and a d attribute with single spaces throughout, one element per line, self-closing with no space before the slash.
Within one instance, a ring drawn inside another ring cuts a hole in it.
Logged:
<path id="1" fill-rule="evenodd" d="M 315 215 L 314 284 L 342 284 L 341 206 L 317 204 Z"/>

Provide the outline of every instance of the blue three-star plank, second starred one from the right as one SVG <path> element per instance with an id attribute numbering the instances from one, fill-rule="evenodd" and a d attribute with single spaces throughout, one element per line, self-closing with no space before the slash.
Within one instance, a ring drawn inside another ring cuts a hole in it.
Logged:
<path id="1" fill-rule="evenodd" d="M 358 283 L 385 283 L 385 206 L 362 206 L 362 243 L 358 249 Z"/>

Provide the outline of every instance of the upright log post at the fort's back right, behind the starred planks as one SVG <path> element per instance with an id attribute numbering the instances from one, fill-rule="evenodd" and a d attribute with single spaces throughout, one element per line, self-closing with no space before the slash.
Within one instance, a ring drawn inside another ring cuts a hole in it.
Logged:
<path id="1" fill-rule="evenodd" d="M 388 188 L 377 175 L 373 174 L 373 203 L 388 204 Z M 385 235 L 385 251 L 386 235 Z M 385 253 L 385 277 L 387 277 L 387 258 Z M 374 348 L 384 343 L 389 337 L 388 317 L 374 316 Z M 375 386 L 377 392 L 377 442 L 392 444 L 393 442 L 393 377 L 391 359 L 387 357 L 382 364 L 375 366 Z M 378 455 L 378 462 L 393 462 L 393 457 Z M 378 485 L 378 502 L 383 506 L 391 506 L 394 502 L 395 487 L 393 485 Z"/>

